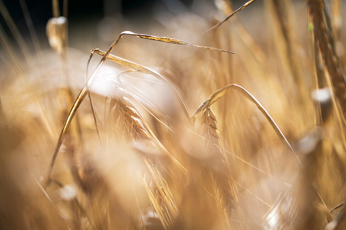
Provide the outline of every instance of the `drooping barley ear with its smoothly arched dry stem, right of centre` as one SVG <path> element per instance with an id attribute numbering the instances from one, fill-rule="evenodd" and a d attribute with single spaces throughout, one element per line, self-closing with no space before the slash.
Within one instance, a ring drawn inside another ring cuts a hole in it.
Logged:
<path id="1" fill-rule="evenodd" d="M 235 181 L 232 178 L 231 171 L 229 168 L 229 162 L 227 159 L 227 155 L 224 151 L 222 139 L 220 136 L 218 124 L 216 121 L 216 116 L 213 113 L 213 111 L 210 109 L 210 106 L 215 103 L 218 99 L 220 99 L 222 96 L 226 94 L 228 89 L 234 88 L 238 90 L 240 93 L 242 93 L 247 99 L 252 101 L 258 109 L 265 115 L 267 120 L 270 122 L 272 127 L 274 128 L 276 134 L 279 136 L 280 140 L 283 142 L 283 144 L 294 153 L 291 145 L 286 140 L 285 136 L 282 134 L 279 127 L 276 125 L 272 117 L 268 114 L 268 112 L 264 109 L 264 107 L 258 102 L 258 100 L 252 96 L 249 92 L 247 92 L 243 87 L 236 85 L 236 84 L 230 84 L 228 86 L 225 86 L 224 88 L 221 88 L 217 90 L 215 93 L 210 95 L 204 102 L 197 108 L 197 110 L 192 115 L 192 119 L 195 119 L 195 116 L 202 112 L 200 126 L 201 126 L 201 134 L 202 137 L 204 137 L 205 141 L 205 147 L 206 151 L 211 152 L 216 155 L 216 158 L 219 161 L 219 165 L 221 165 L 223 172 L 226 172 L 226 175 L 222 174 L 215 174 L 212 171 L 208 171 L 206 174 L 210 174 L 211 178 L 211 185 L 214 188 L 213 195 L 217 199 L 220 209 L 219 212 L 221 213 L 222 210 L 224 210 L 225 214 L 225 223 L 229 225 L 228 223 L 228 216 L 230 214 L 231 208 L 235 208 L 235 205 L 237 203 L 237 193 L 238 188 L 235 183 Z M 218 147 L 219 146 L 219 147 Z M 297 158 L 300 165 L 301 162 L 298 158 L 298 156 L 294 153 L 295 157 Z M 219 166 L 218 165 L 218 166 Z M 207 175 L 208 176 L 208 175 Z M 225 212 L 227 210 L 227 212 Z M 242 218 L 242 211 L 237 210 L 238 215 L 240 218 Z"/>

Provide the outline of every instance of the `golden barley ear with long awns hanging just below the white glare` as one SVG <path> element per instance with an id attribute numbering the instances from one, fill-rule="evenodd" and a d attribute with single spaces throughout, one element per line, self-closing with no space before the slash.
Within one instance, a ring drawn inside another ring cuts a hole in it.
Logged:
<path id="1" fill-rule="evenodd" d="M 149 127 L 144 121 L 144 118 L 129 99 L 131 97 L 130 94 L 121 87 L 124 83 L 120 83 L 120 79 L 117 79 L 116 82 L 118 83 L 115 87 L 116 95 L 113 95 L 111 98 L 112 108 L 110 109 L 112 111 L 113 122 L 118 124 L 122 131 L 121 136 L 133 142 L 135 145 L 145 144 L 156 149 L 156 140 L 153 138 L 152 132 L 149 131 Z M 149 184 L 149 198 L 151 198 L 154 208 L 156 212 L 159 213 L 160 220 L 166 228 L 167 224 L 172 222 L 170 214 L 166 213 L 166 209 L 168 208 L 170 213 L 176 215 L 177 205 L 167 183 L 156 167 L 155 157 L 152 155 L 144 155 L 142 160 L 146 168 L 143 180 L 145 181 L 145 185 Z M 148 175 L 147 180 L 145 179 L 146 174 Z M 155 199 L 155 201 L 153 199 Z"/>

